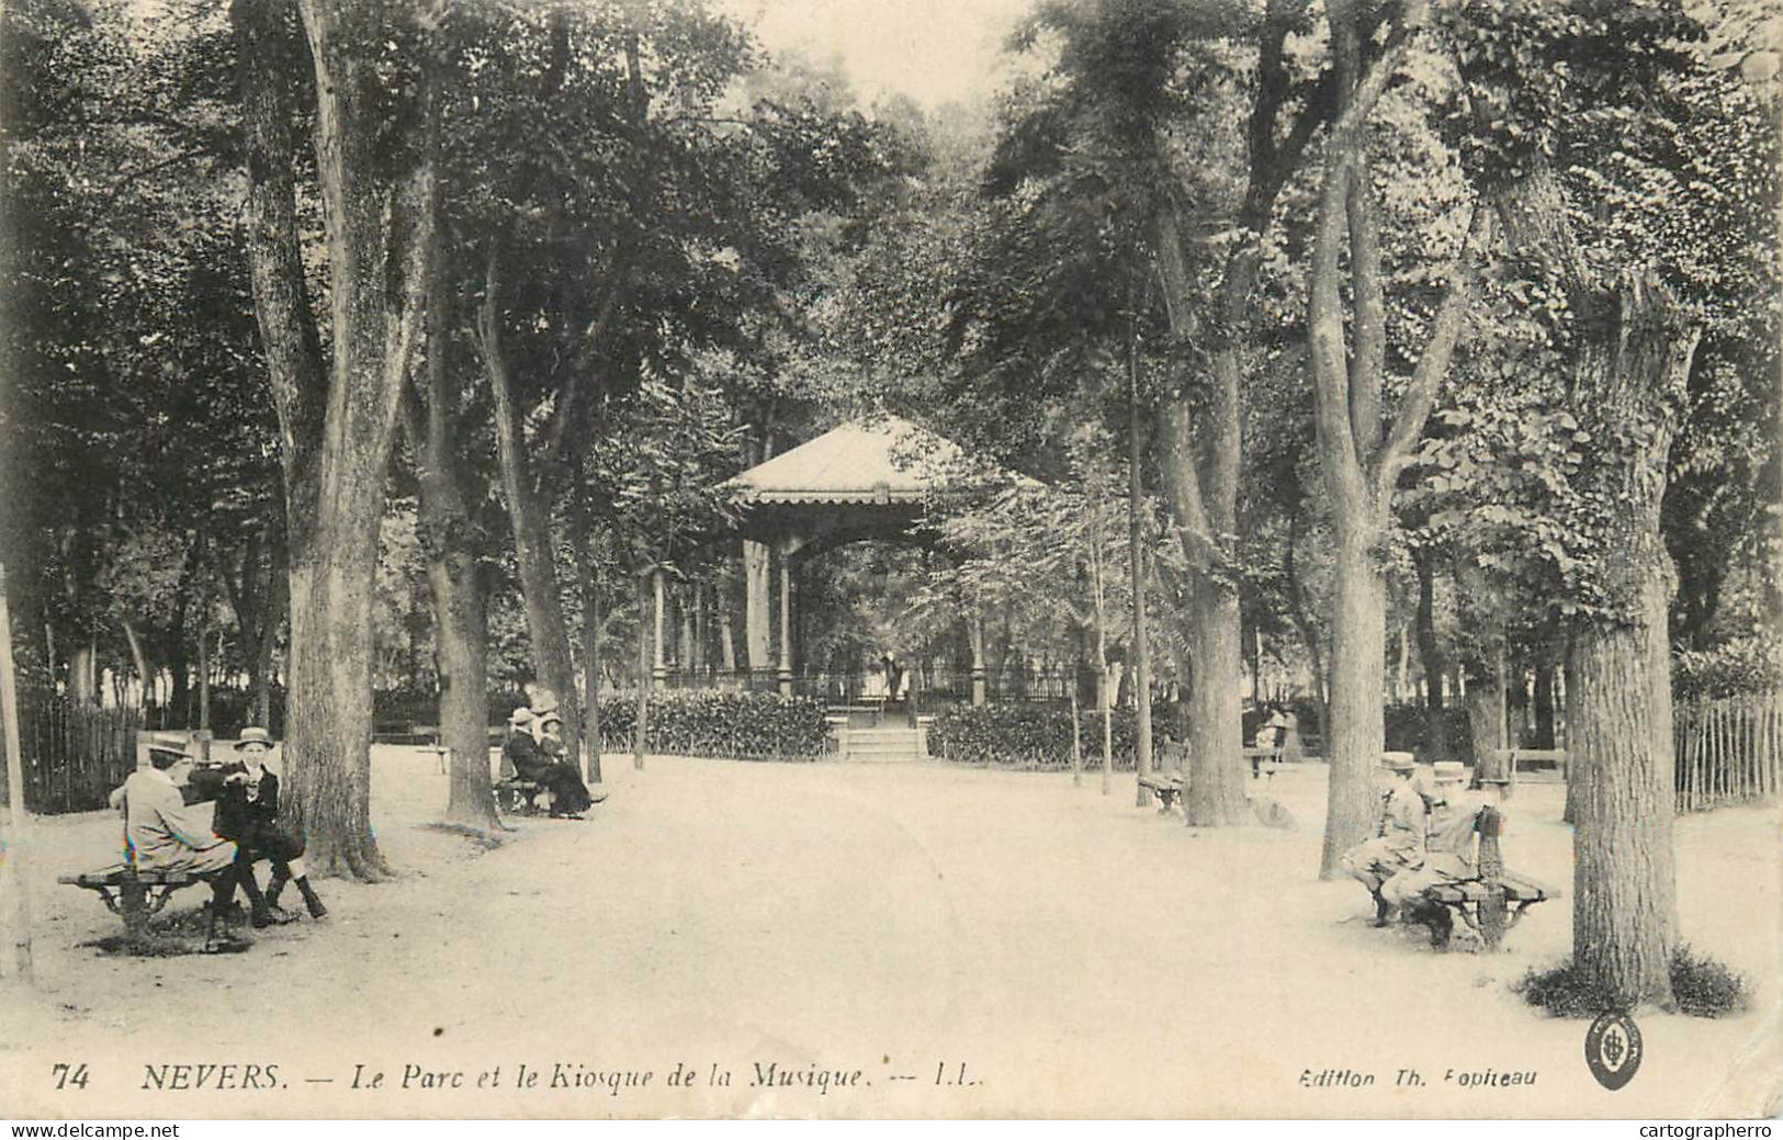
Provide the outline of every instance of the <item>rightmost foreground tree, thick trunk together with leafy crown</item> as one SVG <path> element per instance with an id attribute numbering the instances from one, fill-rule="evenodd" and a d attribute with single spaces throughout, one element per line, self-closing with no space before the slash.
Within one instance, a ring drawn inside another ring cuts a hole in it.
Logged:
<path id="1" fill-rule="evenodd" d="M 1678 4 L 1458 14 L 1473 162 L 1558 357 L 1580 460 L 1560 615 L 1569 632 L 1573 954 L 1630 1008 L 1669 1006 L 1678 944 L 1672 724 L 1660 528 L 1669 451 L 1705 325 L 1774 296 L 1774 105 L 1705 66 Z M 1772 123 L 1760 130 L 1742 123 Z M 1590 209 L 1585 209 L 1590 203 Z M 1753 244 L 1730 216 L 1765 218 Z"/>

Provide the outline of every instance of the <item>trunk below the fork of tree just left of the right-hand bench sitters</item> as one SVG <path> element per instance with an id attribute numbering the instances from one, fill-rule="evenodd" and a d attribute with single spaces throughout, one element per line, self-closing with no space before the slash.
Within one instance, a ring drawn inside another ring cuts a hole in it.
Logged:
<path id="1" fill-rule="evenodd" d="M 1319 878 L 1343 876 L 1337 860 L 1375 826 L 1375 765 L 1385 746 L 1382 689 L 1387 589 L 1371 528 L 1339 528 L 1332 587 L 1330 715 L 1325 756 L 1330 794 Z"/>

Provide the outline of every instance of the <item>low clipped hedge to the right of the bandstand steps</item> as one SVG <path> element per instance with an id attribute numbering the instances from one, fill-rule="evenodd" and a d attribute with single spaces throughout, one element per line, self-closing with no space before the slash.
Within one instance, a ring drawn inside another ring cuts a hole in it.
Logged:
<path id="1" fill-rule="evenodd" d="M 1114 767 L 1134 767 L 1134 735 L 1139 717 L 1132 708 L 1113 715 Z M 1102 764 L 1102 717 L 1086 708 L 1079 724 L 1084 767 Z M 1152 705 L 1152 740 L 1173 739 L 1170 706 Z M 1072 765 L 1072 712 L 1057 705 L 956 705 L 929 724 L 929 755 L 952 764 L 1015 769 L 1068 769 Z"/>

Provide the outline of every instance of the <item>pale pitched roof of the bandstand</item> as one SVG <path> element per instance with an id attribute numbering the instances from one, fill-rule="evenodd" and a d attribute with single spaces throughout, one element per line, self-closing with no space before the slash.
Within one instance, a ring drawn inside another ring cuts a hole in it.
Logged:
<path id="1" fill-rule="evenodd" d="M 959 446 L 897 416 L 852 419 L 733 482 L 749 503 L 916 503 L 961 460 Z"/>

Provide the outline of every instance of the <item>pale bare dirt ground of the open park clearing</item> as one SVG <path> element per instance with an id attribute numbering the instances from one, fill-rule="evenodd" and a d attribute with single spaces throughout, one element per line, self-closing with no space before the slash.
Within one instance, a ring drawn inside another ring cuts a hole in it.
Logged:
<path id="1" fill-rule="evenodd" d="M 1132 776 L 1102 796 L 1097 774 L 941 764 L 608 756 L 606 787 L 587 822 L 522 819 L 483 849 L 426 826 L 431 755 L 378 748 L 373 817 L 401 878 L 325 881 L 326 921 L 228 956 L 86 946 L 118 922 L 55 876 L 114 862 L 118 822 L 36 821 L 39 990 L 0 987 L 0 1115 L 1776 1110 L 1774 808 L 1676 828 L 1685 938 L 1754 981 L 1754 1012 L 1640 1013 L 1642 1069 L 1606 1092 L 1585 1024 L 1508 990 L 1567 951 L 1569 899 L 1501 954 L 1371 929 L 1360 887 L 1316 878 L 1321 765 L 1266 789 L 1291 831 L 1189 830 L 1134 808 Z M 1524 785 L 1508 812 L 1507 862 L 1571 896 L 1560 789 Z"/>

